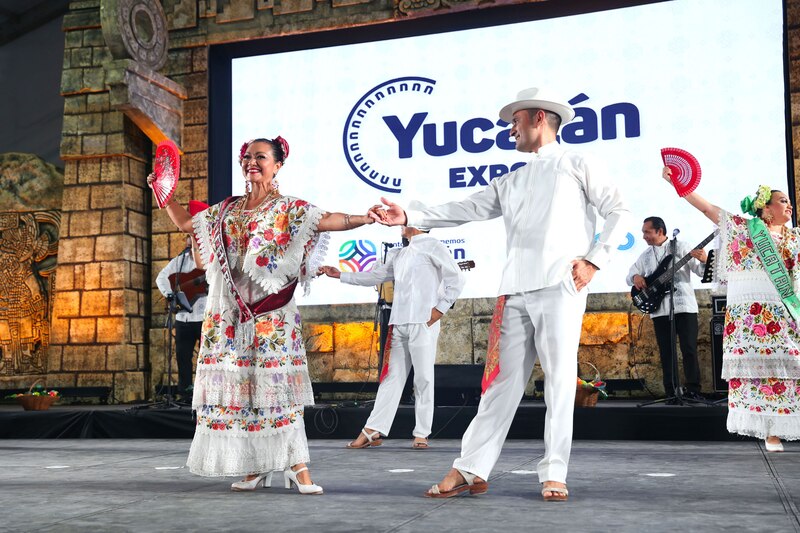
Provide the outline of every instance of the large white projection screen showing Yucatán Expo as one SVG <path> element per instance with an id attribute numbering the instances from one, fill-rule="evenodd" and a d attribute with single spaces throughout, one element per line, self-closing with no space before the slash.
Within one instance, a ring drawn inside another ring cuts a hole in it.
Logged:
<path id="1" fill-rule="evenodd" d="M 518 13 L 481 26 L 476 20 L 492 18 L 475 12 L 465 29 L 427 24 L 414 34 L 398 23 L 400 37 L 383 25 L 380 37 L 372 34 L 378 40 L 353 29 L 325 32 L 323 44 L 276 38 L 259 50 L 228 50 L 229 63 L 211 72 L 221 77 L 211 84 L 212 200 L 242 194 L 242 142 L 277 135 L 291 144 L 281 192 L 325 210 L 363 213 L 382 196 L 403 206 L 464 198 L 530 159 L 513 149 L 498 110 L 534 86 L 573 103 L 577 117 L 560 142 L 602 160 L 633 212 L 627 239 L 591 292 L 629 290 L 626 274 L 646 247 L 645 217 L 661 216 L 670 234 L 678 228 L 693 244 L 713 230 L 660 179 L 663 147 L 695 155 L 698 192 L 728 210 L 738 212 L 760 183 L 791 194 L 780 0 L 672 0 L 548 18 L 531 5 Z M 332 233 L 326 263 L 369 270 L 399 233 L 378 225 Z M 432 235 L 476 263 L 462 298 L 497 295 L 506 257 L 499 219 Z M 375 299 L 371 288 L 324 279 L 298 301 Z"/>

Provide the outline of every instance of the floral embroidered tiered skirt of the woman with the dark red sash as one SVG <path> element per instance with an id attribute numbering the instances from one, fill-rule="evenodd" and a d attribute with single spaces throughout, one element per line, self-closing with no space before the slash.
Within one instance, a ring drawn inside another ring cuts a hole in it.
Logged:
<path id="1" fill-rule="evenodd" d="M 213 312 L 203 323 L 189 470 L 244 476 L 307 463 L 303 410 L 314 396 L 296 307 L 259 316 L 245 349 L 235 347 L 235 327 Z"/>

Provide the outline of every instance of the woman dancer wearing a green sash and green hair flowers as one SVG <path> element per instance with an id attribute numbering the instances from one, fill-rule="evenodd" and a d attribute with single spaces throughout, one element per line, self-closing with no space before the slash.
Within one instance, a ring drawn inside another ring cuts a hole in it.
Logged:
<path id="1" fill-rule="evenodd" d="M 664 168 L 662 177 L 671 181 L 670 176 Z M 722 377 L 728 380 L 728 431 L 765 439 L 767 451 L 783 451 L 781 439 L 800 439 L 800 306 L 795 295 L 800 230 L 786 226 L 791 201 L 762 185 L 755 197 L 742 200 L 742 210 L 753 217 L 747 219 L 697 193 L 685 198 L 720 228 L 715 270 L 727 285 Z"/>

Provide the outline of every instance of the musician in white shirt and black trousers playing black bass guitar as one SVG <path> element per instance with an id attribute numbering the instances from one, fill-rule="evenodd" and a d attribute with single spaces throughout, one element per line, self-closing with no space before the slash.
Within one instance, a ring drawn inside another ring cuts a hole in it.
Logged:
<path id="1" fill-rule="evenodd" d="M 675 230 L 677 236 L 677 230 Z M 647 249 L 636 260 L 628 271 L 627 283 L 632 285 L 632 293 L 647 294 L 648 281 L 651 285 L 663 283 L 665 290 L 654 291 L 649 306 L 637 305 L 639 309 L 646 309 L 653 319 L 653 329 L 661 354 L 661 368 L 663 370 L 664 391 L 667 396 L 675 392 L 676 381 L 673 376 L 672 365 L 672 339 L 670 339 L 669 323 L 669 298 L 664 294 L 669 293 L 669 280 L 664 280 L 661 274 L 662 265 L 669 265 L 671 260 L 670 242 L 667 238 L 667 226 L 660 217 L 647 217 L 642 226 L 642 238 L 648 244 Z M 701 243 L 704 244 L 704 243 Z M 691 273 L 703 276 L 705 262 L 708 256 L 702 247 L 675 240 L 675 262 L 685 263 L 679 266 L 674 278 L 673 305 L 675 316 L 675 332 L 680 341 L 681 354 L 683 355 L 683 372 L 685 377 L 684 397 L 700 399 L 700 365 L 697 360 L 697 300 L 691 284 Z M 683 259 L 683 261 L 682 261 Z M 667 271 L 666 277 L 669 277 Z M 660 298 L 660 301 L 658 301 Z M 637 299 L 634 297 L 634 302 Z"/>

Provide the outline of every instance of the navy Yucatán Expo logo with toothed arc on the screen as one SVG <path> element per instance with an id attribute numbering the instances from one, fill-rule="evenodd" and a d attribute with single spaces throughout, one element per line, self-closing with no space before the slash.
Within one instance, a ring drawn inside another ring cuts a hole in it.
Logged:
<path id="1" fill-rule="evenodd" d="M 356 102 L 344 125 L 342 147 L 347 163 L 361 181 L 383 192 L 401 193 L 403 174 L 416 172 L 410 170 L 415 167 L 404 168 L 404 161 L 416 156 L 460 156 L 463 160 L 442 176 L 450 189 L 486 186 L 526 164 L 527 158 L 520 157 L 523 160 L 517 162 L 470 165 L 473 154 L 496 149 L 514 152 L 516 143 L 510 137 L 510 125 L 499 118 L 486 117 L 437 123 L 436 83 L 421 76 L 395 78 L 376 85 Z M 641 136 L 639 108 L 634 104 L 618 102 L 599 111 L 578 105 L 589 98 L 578 93 L 568 100 L 575 109 L 575 119 L 560 129 L 560 142 L 585 144 Z M 398 107 L 408 106 L 409 101 L 418 110 Z"/>

